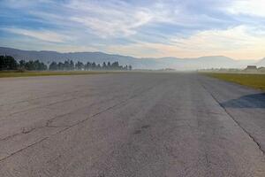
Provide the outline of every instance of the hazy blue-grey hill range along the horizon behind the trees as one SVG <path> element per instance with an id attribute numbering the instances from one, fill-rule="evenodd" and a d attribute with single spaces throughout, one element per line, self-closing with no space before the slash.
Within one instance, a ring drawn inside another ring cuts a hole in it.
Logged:
<path id="1" fill-rule="evenodd" d="M 208 68 L 245 68 L 246 65 L 254 65 L 251 60 L 234 60 L 223 56 L 210 56 L 201 58 L 133 58 L 129 56 L 106 54 L 102 52 L 70 52 L 60 53 L 57 51 L 35 51 L 35 50 L 17 50 L 0 47 L 0 55 L 10 55 L 20 60 L 39 59 L 49 64 L 51 61 L 64 61 L 66 59 L 74 62 L 87 61 L 103 63 L 118 61 L 121 65 L 133 65 L 137 69 L 163 69 L 174 68 L 177 70 L 196 70 Z M 265 65 L 265 59 L 259 62 Z"/>

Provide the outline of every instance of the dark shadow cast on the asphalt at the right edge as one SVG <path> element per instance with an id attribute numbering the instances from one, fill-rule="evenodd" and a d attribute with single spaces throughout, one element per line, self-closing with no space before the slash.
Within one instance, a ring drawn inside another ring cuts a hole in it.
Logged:
<path id="1" fill-rule="evenodd" d="M 265 93 L 241 96 L 221 103 L 224 108 L 265 108 Z"/>

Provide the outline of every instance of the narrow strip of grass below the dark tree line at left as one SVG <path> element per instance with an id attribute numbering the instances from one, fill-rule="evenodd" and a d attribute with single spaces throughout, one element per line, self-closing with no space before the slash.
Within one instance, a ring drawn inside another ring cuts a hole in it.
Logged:
<path id="1" fill-rule="evenodd" d="M 110 71 L 62 71 L 62 72 L 0 72 L 0 78 L 6 77 L 30 77 L 30 76 L 50 76 L 50 75 L 81 75 L 81 74 L 99 74 L 99 73 L 116 73 Z"/>

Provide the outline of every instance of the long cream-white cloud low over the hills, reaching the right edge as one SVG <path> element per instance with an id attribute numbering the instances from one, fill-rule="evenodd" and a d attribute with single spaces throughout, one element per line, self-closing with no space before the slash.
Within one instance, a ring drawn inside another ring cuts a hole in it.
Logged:
<path id="1" fill-rule="evenodd" d="M 137 42 L 129 45 L 113 45 L 109 51 L 137 57 L 191 58 L 209 55 L 225 55 L 235 59 L 256 59 L 265 56 L 265 34 L 254 34 L 254 28 L 239 26 L 226 30 L 207 30 L 187 38 L 173 38 L 168 44 Z M 153 51 L 153 52 L 149 52 Z"/>

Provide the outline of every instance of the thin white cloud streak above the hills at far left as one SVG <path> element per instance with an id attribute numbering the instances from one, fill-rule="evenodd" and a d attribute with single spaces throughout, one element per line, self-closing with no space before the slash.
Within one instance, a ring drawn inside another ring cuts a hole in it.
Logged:
<path id="1" fill-rule="evenodd" d="M 65 42 L 70 39 L 70 37 L 67 35 L 61 35 L 48 30 L 28 30 L 21 28 L 2 28 L 2 30 L 17 35 L 34 37 L 35 39 L 45 42 Z"/>

